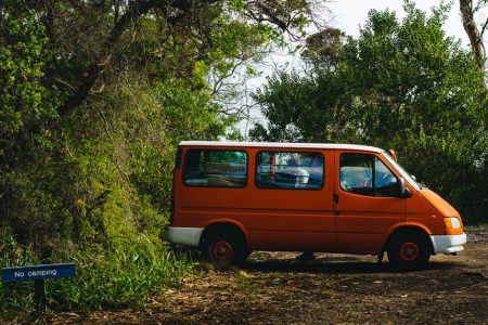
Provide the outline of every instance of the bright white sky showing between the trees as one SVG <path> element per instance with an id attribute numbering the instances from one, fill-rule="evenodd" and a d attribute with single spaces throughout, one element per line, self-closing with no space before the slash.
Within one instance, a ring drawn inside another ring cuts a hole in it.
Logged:
<path id="1" fill-rule="evenodd" d="M 418 0 L 414 1 L 416 8 L 431 13 L 431 9 L 433 6 L 437 6 L 440 3 L 440 0 Z M 445 1 L 448 2 L 448 1 Z M 331 14 L 323 17 L 323 21 L 328 22 L 328 26 L 339 28 L 346 32 L 346 35 L 350 35 L 354 37 L 359 36 L 360 26 L 364 25 L 368 20 L 368 12 L 372 9 L 375 10 L 390 10 L 397 13 L 397 16 L 401 20 L 404 17 L 403 12 L 403 0 L 333 0 L 328 1 L 328 9 Z M 488 15 L 488 6 L 484 9 L 484 12 L 479 14 L 479 21 L 483 18 L 486 20 Z M 459 12 L 459 0 L 454 0 L 451 6 L 450 14 L 448 20 L 444 26 L 447 36 L 453 36 L 458 39 L 461 39 L 461 44 L 466 49 L 470 48 L 470 41 L 464 31 L 464 27 L 461 22 L 461 16 Z M 288 69 L 293 69 L 294 67 L 299 67 L 300 60 L 299 55 L 270 55 L 266 60 L 268 66 L 272 65 L 286 65 Z M 262 75 L 251 81 L 249 88 L 257 89 L 262 87 L 266 82 L 266 77 L 273 73 L 272 68 L 262 72 Z M 254 108 L 249 112 L 249 115 L 253 120 L 259 120 L 262 122 L 264 117 L 261 116 L 258 108 Z M 237 128 L 241 130 L 241 133 L 245 135 L 247 131 L 252 128 L 253 122 L 249 120 L 241 121 L 237 125 Z M 265 123 L 266 125 L 266 123 Z"/>

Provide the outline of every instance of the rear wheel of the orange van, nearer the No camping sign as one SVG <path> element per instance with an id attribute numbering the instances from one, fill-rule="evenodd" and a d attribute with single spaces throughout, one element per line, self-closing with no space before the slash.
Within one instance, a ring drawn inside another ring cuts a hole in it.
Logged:
<path id="1" fill-rule="evenodd" d="M 235 231 L 214 230 L 204 239 L 203 251 L 219 269 L 241 265 L 246 258 L 244 239 Z"/>

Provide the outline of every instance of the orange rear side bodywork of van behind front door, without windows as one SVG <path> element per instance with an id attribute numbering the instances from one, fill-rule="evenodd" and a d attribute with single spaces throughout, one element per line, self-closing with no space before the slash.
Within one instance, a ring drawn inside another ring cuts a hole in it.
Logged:
<path id="1" fill-rule="evenodd" d="M 218 220 L 233 220 L 245 229 L 249 249 L 334 251 L 333 152 L 303 150 L 324 155 L 321 190 L 271 190 L 255 184 L 255 158 L 262 150 L 273 151 L 243 148 L 248 155 L 248 179 L 243 188 L 185 186 L 182 169 L 176 171 L 179 183 L 172 225 L 204 229 Z"/>

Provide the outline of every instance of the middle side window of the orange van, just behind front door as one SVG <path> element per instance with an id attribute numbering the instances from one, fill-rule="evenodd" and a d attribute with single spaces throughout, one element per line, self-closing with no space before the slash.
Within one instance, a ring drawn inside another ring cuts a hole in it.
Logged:
<path id="1" fill-rule="evenodd" d="M 321 153 L 260 152 L 256 157 L 256 186 L 320 190 L 323 170 Z"/>

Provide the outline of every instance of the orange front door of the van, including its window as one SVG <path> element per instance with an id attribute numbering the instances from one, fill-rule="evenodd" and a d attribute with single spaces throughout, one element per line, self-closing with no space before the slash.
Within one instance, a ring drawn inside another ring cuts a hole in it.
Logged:
<path id="1" fill-rule="evenodd" d="M 334 218 L 337 250 L 377 253 L 382 237 L 404 221 L 404 198 L 398 177 L 380 155 L 337 151 L 334 173 Z"/>

